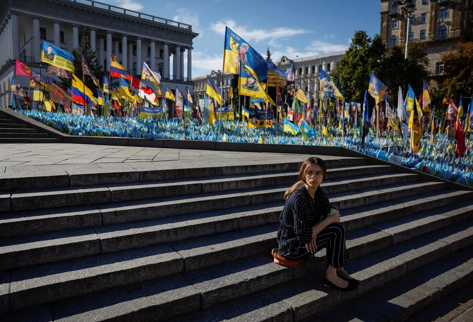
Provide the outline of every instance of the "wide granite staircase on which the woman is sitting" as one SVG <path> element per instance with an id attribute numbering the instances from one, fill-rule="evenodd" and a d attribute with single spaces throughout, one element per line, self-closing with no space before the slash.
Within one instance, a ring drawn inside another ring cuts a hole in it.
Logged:
<path id="1" fill-rule="evenodd" d="M 326 288 L 325 250 L 297 270 L 270 256 L 300 164 L 0 180 L 0 320 L 318 319 L 473 244 L 473 191 L 331 157 L 323 188 L 362 285 Z"/>

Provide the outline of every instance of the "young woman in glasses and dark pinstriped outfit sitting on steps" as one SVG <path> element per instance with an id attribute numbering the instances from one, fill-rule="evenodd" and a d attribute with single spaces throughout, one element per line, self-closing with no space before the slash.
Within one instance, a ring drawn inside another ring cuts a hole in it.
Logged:
<path id="1" fill-rule="evenodd" d="M 273 250 L 274 262 L 298 267 L 305 257 L 327 248 L 324 285 L 354 291 L 359 282 L 343 269 L 347 259 L 345 230 L 338 210 L 320 187 L 326 174 L 324 161 L 310 157 L 301 166 L 299 181 L 284 194 L 286 204 L 279 217 L 279 248 Z"/>

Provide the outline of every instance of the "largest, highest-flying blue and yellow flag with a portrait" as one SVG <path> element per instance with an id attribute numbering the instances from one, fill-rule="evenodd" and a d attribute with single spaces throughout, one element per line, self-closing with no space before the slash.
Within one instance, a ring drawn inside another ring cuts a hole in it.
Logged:
<path id="1" fill-rule="evenodd" d="M 227 27 L 225 29 L 223 72 L 238 74 L 240 65 L 245 74 L 251 71 L 260 82 L 264 81 L 267 77 L 268 64 L 266 60 L 248 45 L 246 41 Z"/>

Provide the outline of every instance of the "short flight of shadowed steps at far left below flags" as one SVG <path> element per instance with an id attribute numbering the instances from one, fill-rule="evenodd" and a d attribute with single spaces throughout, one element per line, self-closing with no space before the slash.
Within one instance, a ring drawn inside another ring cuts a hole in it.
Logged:
<path id="1" fill-rule="evenodd" d="M 28 128 L 28 124 L 18 123 L 15 119 L 0 114 L 0 143 L 59 143 L 47 133 Z"/>

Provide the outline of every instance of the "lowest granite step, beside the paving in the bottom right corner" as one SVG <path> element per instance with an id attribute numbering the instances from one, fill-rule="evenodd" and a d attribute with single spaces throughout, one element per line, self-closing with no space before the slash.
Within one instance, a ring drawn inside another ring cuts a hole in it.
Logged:
<path id="1" fill-rule="evenodd" d="M 467 247 L 388 282 L 304 322 L 401 322 L 473 281 L 473 248 Z M 471 287 L 471 286 L 470 286 Z M 471 292 L 470 292 L 471 293 Z M 467 300 L 471 299 L 471 296 Z M 413 321 L 434 321 L 414 319 Z M 415 317 L 415 316 L 414 316 Z M 442 321 L 442 320 L 439 320 Z"/>

